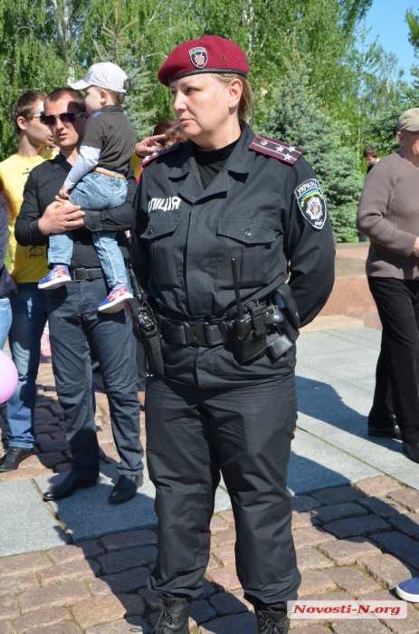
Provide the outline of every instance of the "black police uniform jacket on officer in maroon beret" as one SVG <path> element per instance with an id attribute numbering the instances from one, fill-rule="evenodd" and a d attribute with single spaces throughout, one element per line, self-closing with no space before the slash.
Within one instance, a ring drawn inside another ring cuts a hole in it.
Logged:
<path id="1" fill-rule="evenodd" d="M 232 257 L 243 304 L 267 299 L 290 278 L 304 325 L 329 297 L 335 257 L 329 217 L 321 230 L 314 228 L 294 193 L 315 174 L 305 159 L 290 165 L 255 152 L 250 149 L 254 138 L 246 125 L 224 168 L 205 191 L 190 141 L 152 160 L 141 174 L 132 264 L 141 285 L 148 286 L 152 298 L 172 318 L 220 318 L 235 305 Z M 165 341 L 165 348 L 167 374 L 175 377 L 181 372 L 180 358 L 170 359 L 169 352 L 180 347 Z M 229 344 L 224 346 L 228 348 Z M 197 351 L 193 346 L 179 352 L 185 361 L 191 353 L 200 357 L 208 352 L 214 357 L 214 350 Z M 281 359 L 273 362 L 264 357 L 247 368 L 231 359 L 228 363 L 230 371 L 243 378 L 243 372 L 247 376 L 252 368 L 258 373 L 261 364 L 280 368 Z"/>

